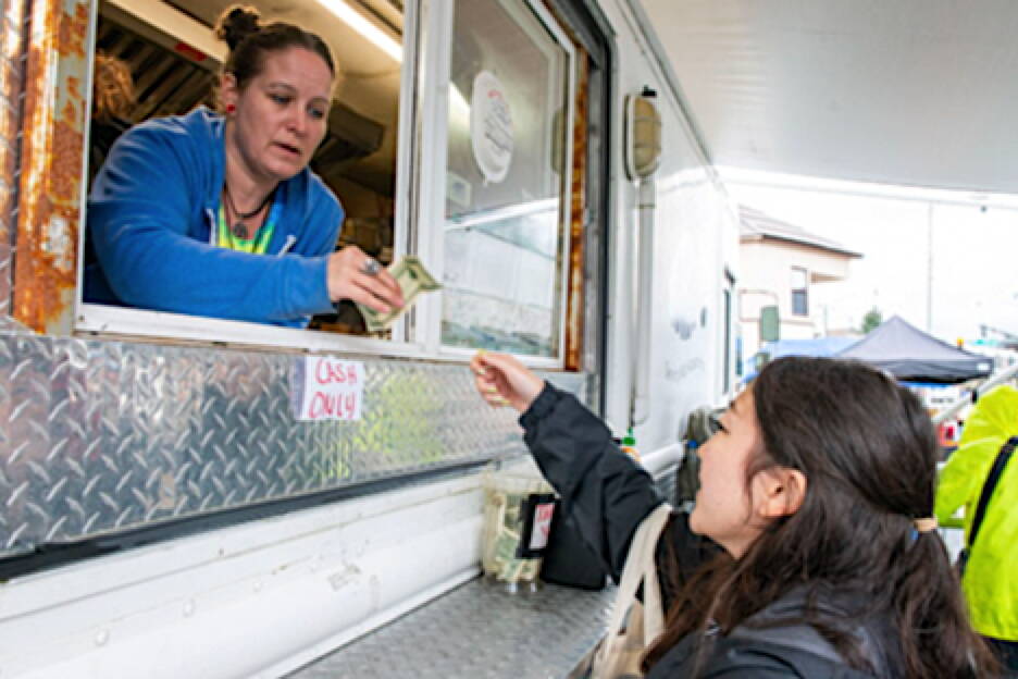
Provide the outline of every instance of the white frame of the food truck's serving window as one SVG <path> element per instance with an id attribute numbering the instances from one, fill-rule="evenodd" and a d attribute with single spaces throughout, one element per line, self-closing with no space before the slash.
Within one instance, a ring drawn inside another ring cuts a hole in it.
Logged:
<path id="1" fill-rule="evenodd" d="M 499 0 L 501 1 L 501 0 Z M 569 195 L 572 175 L 573 139 L 572 126 L 575 121 L 575 46 L 566 30 L 554 18 L 550 11 L 538 0 L 519 0 L 526 9 L 534 12 L 538 22 L 548 30 L 568 58 L 568 106 L 569 115 L 566 125 L 564 158 L 567 170 L 562 177 L 562 193 L 559 198 L 559 223 L 568 224 L 571 207 Z M 100 15 L 100 0 L 91 3 L 87 36 L 87 58 L 89 60 L 86 84 L 87 111 L 91 111 L 91 91 L 94 69 L 91 62 L 96 53 L 96 36 Z M 121 9 L 122 3 L 116 5 Z M 445 164 L 446 125 L 448 118 L 449 58 L 451 45 L 440 39 L 448 35 L 452 22 L 455 0 L 426 0 L 405 3 L 402 50 L 400 64 L 399 114 L 397 131 L 396 196 L 394 206 L 394 261 L 415 254 L 429 262 L 430 269 L 442 277 L 444 261 L 442 257 L 445 219 Z M 178 12 L 175 8 L 173 11 Z M 511 11 L 508 10 L 507 11 Z M 134 12 L 132 12 L 134 13 Z M 142 16 L 135 14 L 140 21 Z M 337 20 L 338 21 L 338 20 Z M 172 33 L 171 28 L 160 27 Z M 178 37 L 178 36 L 176 36 Z M 436 37 L 429 39 L 429 37 Z M 212 55 L 215 58 L 214 55 Z M 439 96 L 422 97 L 421 92 L 439 92 Z M 91 115 L 87 116 L 90 131 Z M 83 147 L 82 177 L 83 188 L 87 185 L 88 153 L 90 135 L 86 135 Z M 420 141 L 414 144 L 414 139 Z M 433 165 L 440 165 L 435 172 Z M 440 189 L 440 190 L 438 190 Z M 290 329 L 263 323 L 224 320 L 211 317 L 171 313 L 150 309 L 114 307 L 85 303 L 84 294 L 84 243 L 87 211 L 87 195 L 82 192 L 82 227 L 78 230 L 78 254 L 76 285 L 74 291 L 73 319 L 71 331 L 76 335 L 90 335 L 124 340 L 147 337 L 165 341 L 169 344 L 191 344 L 238 347 L 272 347 L 294 353 L 333 351 L 353 353 L 374 356 L 421 358 L 438 361 L 462 362 L 475 353 L 475 349 L 446 347 L 440 342 L 442 304 L 440 295 L 426 295 L 393 325 L 392 338 L 362 337 L 324 331 Z M 438 197 L 442 197 L 439 200 Z M 437 206 L 436 206 L 437 202 Z M 440 210 L 442 220 L 429 219 Z M 564 220 L 564 222 L 563 222 Z M 432 226 L 438 224 L 437 226 Z M 422 227 L 423 225 L 423 227 Z M 561 370 L 564 365 L 566 313 L 569 293 L 566 266 L 569 251 L 569 234 L 560 234 L 563 240 L 563 257 L 557 272 L 560 284 L 560 309 L 558 319 L 559 342 L 556 358 L 518 355 L 526 365 L 550 370 Z"/>

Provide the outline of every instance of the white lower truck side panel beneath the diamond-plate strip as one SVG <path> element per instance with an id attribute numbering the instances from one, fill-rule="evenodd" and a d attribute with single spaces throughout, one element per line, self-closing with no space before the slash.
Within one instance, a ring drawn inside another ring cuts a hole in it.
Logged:
<path id="1" fill-rule="evenodd" d="M 481 508 L 474 476 L 18 578 L 0 676 L 278 676 L 475 577 Z"/>

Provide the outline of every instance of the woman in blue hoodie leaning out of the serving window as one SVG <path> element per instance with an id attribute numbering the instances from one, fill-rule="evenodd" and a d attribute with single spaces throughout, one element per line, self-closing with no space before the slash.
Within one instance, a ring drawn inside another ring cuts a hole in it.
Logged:
<path id="1" fill-rule="evenodd" d="M 241 7 L 215 33 L 229 46 L 222 114 L 137 125 L 99 172 L 85 300 L 290 326 L 339 299 L 401 306 L 377 261 L 333 251 L 343 209 L 308 169 L 336 79 L 326 45 Z"/>

